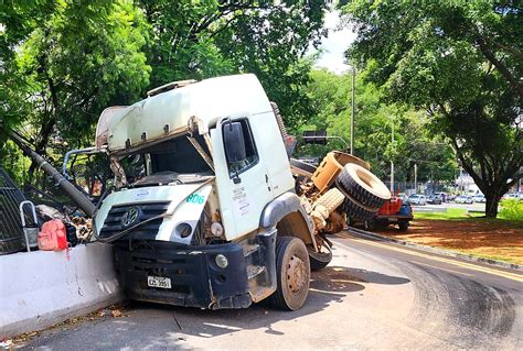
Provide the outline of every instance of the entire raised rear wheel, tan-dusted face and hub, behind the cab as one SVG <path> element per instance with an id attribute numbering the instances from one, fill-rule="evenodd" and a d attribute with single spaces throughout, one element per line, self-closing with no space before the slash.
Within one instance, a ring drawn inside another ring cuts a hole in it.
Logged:
<path id="1" fill-rule="evenodd" d="M 391 191 L 380 178 L 354 163 L 346 164 L 337 180 L 354 200 L 372 209 L 378 209 L 391 198 Z"/>

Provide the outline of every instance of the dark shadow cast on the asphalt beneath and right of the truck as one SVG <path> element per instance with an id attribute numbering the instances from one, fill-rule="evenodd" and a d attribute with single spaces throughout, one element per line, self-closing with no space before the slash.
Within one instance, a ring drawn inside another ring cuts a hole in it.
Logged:
<path id="1" fill-rule="evenodd" d="M 134 315 L 137 316 L 138 320 L 142 319 L 145 323 L 149 323 L 152 316 L 157 316 L 156 318 L 167 322 L 167 325 L 162 325 L 160 330 L 157 329 L 157 333 L 175 331 L 178 336 L 212 338 L 222 334 L 234 334 L 239 330 L 265 329 L 266 333 L 284 336 L 284 332 L 278 330 L 278 322 L 297 320 L 300 317 L 319 312 L 332 304 L 342 303 L 350 294 L 365 288 L 361 283 L 395 285 L 409 282 L 407 278 L 376 272 L 332 266 L 312 273 L 308 300 L 297 311 L 278 310 L 268 303 L 237 310 L 200 310 L 136 301 L 132 303 L 132 307 Z M 182 329 L 178 327 L 177 320 Z M 121 327 L 120 325 L 119 332 L 122 332 Z M 129 328 L 132 329 L 131 326 Z"/>

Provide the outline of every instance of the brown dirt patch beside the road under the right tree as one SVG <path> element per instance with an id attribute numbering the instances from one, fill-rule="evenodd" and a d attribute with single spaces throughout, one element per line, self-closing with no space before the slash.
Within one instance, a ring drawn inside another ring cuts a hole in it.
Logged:
<path id="1" fill-rule="evenodd" d="M 523 264 L 521 223 L 463 220 L 415 220 L 406 232 L 388 227 L 378 234 L 482 257 Z"/>

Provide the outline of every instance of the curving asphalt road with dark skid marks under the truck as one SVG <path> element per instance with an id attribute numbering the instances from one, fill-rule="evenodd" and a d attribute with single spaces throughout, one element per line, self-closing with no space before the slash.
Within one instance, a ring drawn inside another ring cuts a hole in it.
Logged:
<path id="1" fill-rule="evenodd" d="M 134 303 L 120 318 L 54 328 L 40 350 L 523 349 L 523 275 L 404 246 L 335 239 L 306 305 L 279 311 Z"/>

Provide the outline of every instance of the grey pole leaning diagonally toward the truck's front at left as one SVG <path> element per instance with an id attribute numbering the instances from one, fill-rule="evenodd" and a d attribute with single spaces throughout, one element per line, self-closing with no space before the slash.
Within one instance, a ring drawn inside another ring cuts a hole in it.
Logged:
<path id="1" fill-rule="evenodd" d="M 85 215 L 93 217 L 96 207 L 85 194 L 71 184 L 71 182 L 68 182 L 62 174 L 60 174 L 58 171 L 50 165 L 44 157 L 29 147 L 17 132 L 10 132 L 9 136 L 20 147 L 20 150 L 22 150 L 25 156 L 36 162 L 36 164 L 56 182 L 60 188 L 71 197 L 71 199 L 85 212 Z"/>

